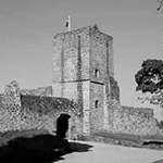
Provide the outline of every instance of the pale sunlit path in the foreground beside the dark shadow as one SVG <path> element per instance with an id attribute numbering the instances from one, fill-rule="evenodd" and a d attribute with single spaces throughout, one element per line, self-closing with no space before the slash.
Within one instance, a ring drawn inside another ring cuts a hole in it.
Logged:
<path id="1" fill-rule="evenodd" d="M 72 141 L 70 154 L 58 163 L 163 163 L 163 151 L 89 141 Z"/>

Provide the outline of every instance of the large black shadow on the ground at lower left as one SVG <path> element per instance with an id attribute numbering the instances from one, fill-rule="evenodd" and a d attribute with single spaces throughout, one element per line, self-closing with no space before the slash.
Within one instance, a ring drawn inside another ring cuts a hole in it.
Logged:
<path id="1" fill-rule="evenodd" d="M 87 152 L 92 146 L 67 142 L 52 135 L 15 138 L 0 147 L 0 163 L 53 163 L 70 152 Z"/>

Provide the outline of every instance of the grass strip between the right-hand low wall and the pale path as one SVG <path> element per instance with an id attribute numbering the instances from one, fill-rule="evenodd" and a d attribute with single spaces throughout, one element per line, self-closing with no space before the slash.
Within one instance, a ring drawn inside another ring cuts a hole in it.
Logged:
<path id="1" fill-rule="evenodd" d="M 163 149 L 163 137 L 129 134 L 96 133 L 90 140 L 137 148 Z"/>

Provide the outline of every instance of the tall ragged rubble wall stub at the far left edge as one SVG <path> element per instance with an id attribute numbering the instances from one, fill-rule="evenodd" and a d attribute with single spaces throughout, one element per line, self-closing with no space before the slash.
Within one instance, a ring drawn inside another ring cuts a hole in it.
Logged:
<path id="1" fill-rule="evenodd" d="M 0 130 L 16 130 L 21 123 L 21 98 L 18 84 L 13 80 L 5 86 L 0 101 Z"/>

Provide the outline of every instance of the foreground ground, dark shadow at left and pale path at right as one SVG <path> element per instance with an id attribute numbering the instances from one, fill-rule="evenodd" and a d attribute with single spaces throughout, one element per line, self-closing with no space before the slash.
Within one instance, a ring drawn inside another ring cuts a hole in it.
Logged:
<path id="1" fill-rule="evenodd" d="M 116 138 L 118 137 L 116 136 Z M 126 137 L 123 138 L 126 139 Z M 136 138 L 134 140 L 137 140 Z M 68 142 L 66 139 L 50 135 L 47 130 L 3 133 L 0 134 L 0 162 L 163 163 L 162 148 L 133 148 L 77 140 L 70 140 Z"/>

